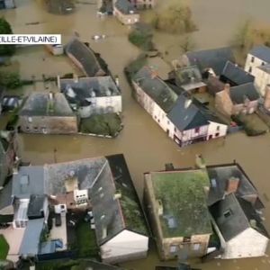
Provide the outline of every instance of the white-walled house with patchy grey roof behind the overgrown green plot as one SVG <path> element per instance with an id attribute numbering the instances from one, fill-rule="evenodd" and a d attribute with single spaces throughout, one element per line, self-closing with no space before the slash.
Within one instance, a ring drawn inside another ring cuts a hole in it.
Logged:
<path id="1" fill-rule="evenodd" d="M 121 92 L 111 76 L 58 79 L 58 88 L 81 118 L 121 112 Z"/>

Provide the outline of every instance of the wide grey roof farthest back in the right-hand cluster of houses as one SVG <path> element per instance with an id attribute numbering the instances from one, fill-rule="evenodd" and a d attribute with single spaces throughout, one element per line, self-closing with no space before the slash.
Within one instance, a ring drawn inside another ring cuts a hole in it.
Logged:
<path id="1" fill-rule="evenodd" d="M 196 65 L 201 72 L 211 67 L 216 75 L 220 75 L 227 61 L 234 62 L 232 50 L 229 47 L 205 49 L 186 53 L 191 65 Z"/>

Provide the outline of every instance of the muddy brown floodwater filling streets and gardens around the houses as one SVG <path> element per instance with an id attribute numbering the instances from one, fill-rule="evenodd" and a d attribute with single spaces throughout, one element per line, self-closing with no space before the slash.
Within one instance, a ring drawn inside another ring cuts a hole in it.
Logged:
<path id="1" fill-rule="evenodd" d="M 193 34 L 197 48 L 200 49 L 227 45 L 238 24 L 247 17 L 254 17 L 261 23 L 270 23 L 268 0 L 257 0 L 256 4 L 254 0 L 193 0 L 190 4 L 193 9 L 193 18 L 200 28 L 200 31 Z M 270 139 L 268 134 L 248 138 L 238 133 L 230 135 L 227 139 L 212 140 L 180 149 L 131 98 L 130 86 L 123 76 L 122 69 L 132 58 L 136 58 L 139 49 L 130 45 L 127 40 L 127 27 L 122 26 L 114 18 L 102 21 L 97 19 L 93 4 L 78 4 L 75 14 L 61 16 L 48 14 L 38 0 L 20 0 L 17 1 L 17 9 L 1 11 L 0 15 L 2 14 L 12 23 L 15 33 L 61 33 L 65 42 L 74 31 L 77 31 L 82 40 L 89 41 L 91 47 L 102 54 L 112 74 L 120 76 L 121 79 L 125 128 L 117 139 L 22 135 L 19 140 L 23 160 L 38 165 L 123 153 L 141 196 L 143 173 L 162 169 L 167 162 L 173 162 L 175 166 L 193 166 L 195 154 L 202 154 L 209 164 L 227 163 L 236 159 L 246 169 L 247 175 L 253 179 L 266 204 L 266 229 L 270 231 L 270 172 L 267 169 L 270 160 Z M 26 23 L 35 22 L 40 22 L 40 24 L 26 25 Z M 92 35 L 100 33 L 106 34 L 108 38 L 100 42 L 91 40 Z M 169 51 L 169 58 L 178 56 L 180 50 L 178 37 L 158 33 L 155 41 L 158 49 Z M 24 78 L 30 78 L 32 75 L 41 77 L 42 74 L 56 76 L 78 72 L 67 58 L 52 57 L 43 47 L 20 49 L 13 61 L 14 67 Z M 161 66 L 159 61 L 155 65 L 164 72 L 164 66 Z M 34 85 L 32 90 L 42 91 L 45 86 Z M 55 154 L 54 148 L 57 149 Z M 270 249 L 267 254 L 270 255 Z M 127 269 L 153 270 L 157 265 L 170 264 L 159 262 L 155 247 L 151 247 L 147 259 L 126 263 L 123 266 Z M 268 270 L 270 257 L 214 260 L 201 267 L 203 270 Z"/>

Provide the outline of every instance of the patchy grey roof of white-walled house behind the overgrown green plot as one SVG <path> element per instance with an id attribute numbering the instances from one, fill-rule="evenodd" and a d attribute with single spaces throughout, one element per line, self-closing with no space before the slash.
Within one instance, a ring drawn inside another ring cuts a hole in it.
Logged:
<path id="1" fill-rule="evenodd" d="M 120 95 L 112 76 L 81 77 L 77 82 L 73 79 L 61 79 L 60 90 L 70 103 L 81 103 L 95 96 Z"/>

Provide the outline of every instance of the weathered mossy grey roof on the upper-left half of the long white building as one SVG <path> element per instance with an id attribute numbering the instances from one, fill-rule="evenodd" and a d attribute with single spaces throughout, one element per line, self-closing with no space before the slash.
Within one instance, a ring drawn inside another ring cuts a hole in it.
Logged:
<path id="1" fill-rule="evenodd" d="M 165 112 L 172 109 L 177 94 L 161 78 L 153 76 L 150 67 L 142 67 L 132 79 Z"/>

